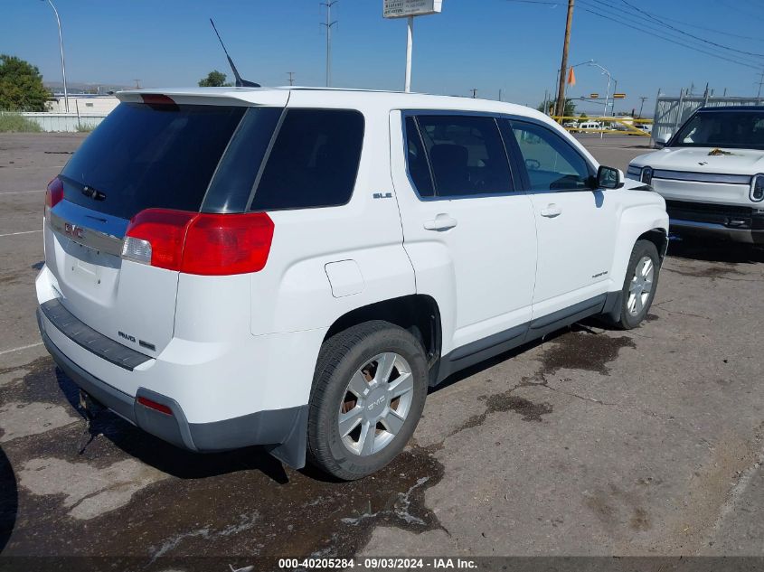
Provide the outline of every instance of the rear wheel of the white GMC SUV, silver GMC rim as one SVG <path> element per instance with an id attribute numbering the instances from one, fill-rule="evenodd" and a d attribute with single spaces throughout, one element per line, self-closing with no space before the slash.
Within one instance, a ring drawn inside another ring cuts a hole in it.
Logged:
<path id="1" fill-rule="evenodd" d="M 352 481 L 398 455 L 427 396 L 421 343 L 387 322 L 355 325 L 324 342 L 307 426 L 308 462 Z"/>

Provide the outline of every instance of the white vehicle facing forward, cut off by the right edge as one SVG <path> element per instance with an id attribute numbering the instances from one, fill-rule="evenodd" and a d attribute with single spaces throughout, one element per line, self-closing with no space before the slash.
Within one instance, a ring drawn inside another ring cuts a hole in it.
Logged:
<path id="1" fill-rule="evenodd" d="M 666 200 L 672 229 L 764 244 L 764 108 L 700 108 L 627 177 Z"/>

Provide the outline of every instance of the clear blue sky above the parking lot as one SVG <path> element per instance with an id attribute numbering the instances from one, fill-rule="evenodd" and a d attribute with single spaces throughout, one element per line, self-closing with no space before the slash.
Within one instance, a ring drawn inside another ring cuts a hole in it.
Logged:
<path id="1" fill-rule="evenodd" d="M 195 85 L 209 70 L 229 73 L 212 33 L 212 16 L 229 52 L 249 80 L 263 85 L 323 85 L 325 17 L 318 0 L 53 0 L 61 14 L 70 82 Z M 573 17 L 570 63 L 594 59 L 626 92 L 616 110 L 655 105 L 656 91 L 678 94 L 706 82 L 718 92 L 756 94 L 764 57 L 725 51 L 710 42 L 764 54 L 764 3 L 735 0 L 630 0 L 647 15 L 625 15 L 623 0 L 579 0 Z M 45 80 L 60 81 L 58 35 L 51 7 L 40 0 L 0 0 L 0 52 L 32 61 Z M 412 89 L 498 98 L 537 105 L 554 87 L 560 66 L 565 0 L 443 0 L 443 13 L 416 19 Z M 609 7 L 613 6 L 613 7 Z M 588 11 L 589 10 L 589 11 Z M 732 61 L 694 52 L 591 12 L 616 15 Z M 632 10 L 633 12 L 633 10 Z M 342 87 L 402 89 L 406 23 L 383 20 L 382 0 L 340 0 L 333 36 L 333 83 Z M 706 30 L 703 28 L 710 28 Z M 680 32 L 681 31 L 681 32 Z M 726 31 L 728 35 L 724 33 Z M 684 32 L 684 33 L 683 33 Z M 693 34 L 706 43 L 690 37 Z M 740 37 L 746 36 L 746 37 Z M 604 95 L 607 78 L 596 68 L 576 69 L 574 96 Z M 592 104 L 580 109 L 594 111 Z"/>

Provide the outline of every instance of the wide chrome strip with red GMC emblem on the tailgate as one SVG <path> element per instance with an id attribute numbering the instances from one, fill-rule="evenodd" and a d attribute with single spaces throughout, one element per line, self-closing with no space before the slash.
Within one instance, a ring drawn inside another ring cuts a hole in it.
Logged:
<path id="1" fill-rule="evenodd" d="M 68 204 L 64 206 L 65 203 Z M 59 208 L 60 205 L 61 208 Z M 51 229 L 61 237 L 70 239 L 83 247 L 116 257 L 122 256 L 122 236 L 127 229 L 127 220 L 114 217 L 110 217 L 109 220 L 107 216 L 97 211 L 92 211 L 93 214 L 81 211 L 90 210 L 73 205 L 71 202 L 59 203 L 51 211 Z M 124 225 L 119 221 L 123 221 Z M 121 232 L 119 227 L 122 227 Z"/>

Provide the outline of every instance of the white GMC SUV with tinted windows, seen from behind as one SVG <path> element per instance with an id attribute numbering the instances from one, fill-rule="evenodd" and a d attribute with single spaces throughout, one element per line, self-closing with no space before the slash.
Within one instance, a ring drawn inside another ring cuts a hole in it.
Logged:
<path id="1" fill-rule="evenodd" d="M 174 445 L 359 478 L 449 374 L 586 316 L 634 327 L 656 294 L 664 200 L 529 108 L 118 97 L 48 187 L 38 321 L 85 394 Z"/>

